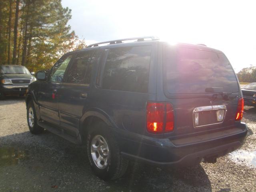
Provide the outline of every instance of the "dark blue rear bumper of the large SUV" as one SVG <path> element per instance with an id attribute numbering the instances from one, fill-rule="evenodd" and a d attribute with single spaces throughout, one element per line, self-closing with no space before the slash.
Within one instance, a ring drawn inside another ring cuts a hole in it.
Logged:
<path id="1" fill-rule="evenodd" d="M 183 139 L 141 138 L 140 141 L 119 139 L 121 153 L 126 158 L 158 166 L 191 166 L 203 159 L 218 158 L 239 148 L 248 132 L 245 123 L 234 127 L 236 131 L 218 136 L 194 136 Z"/>

